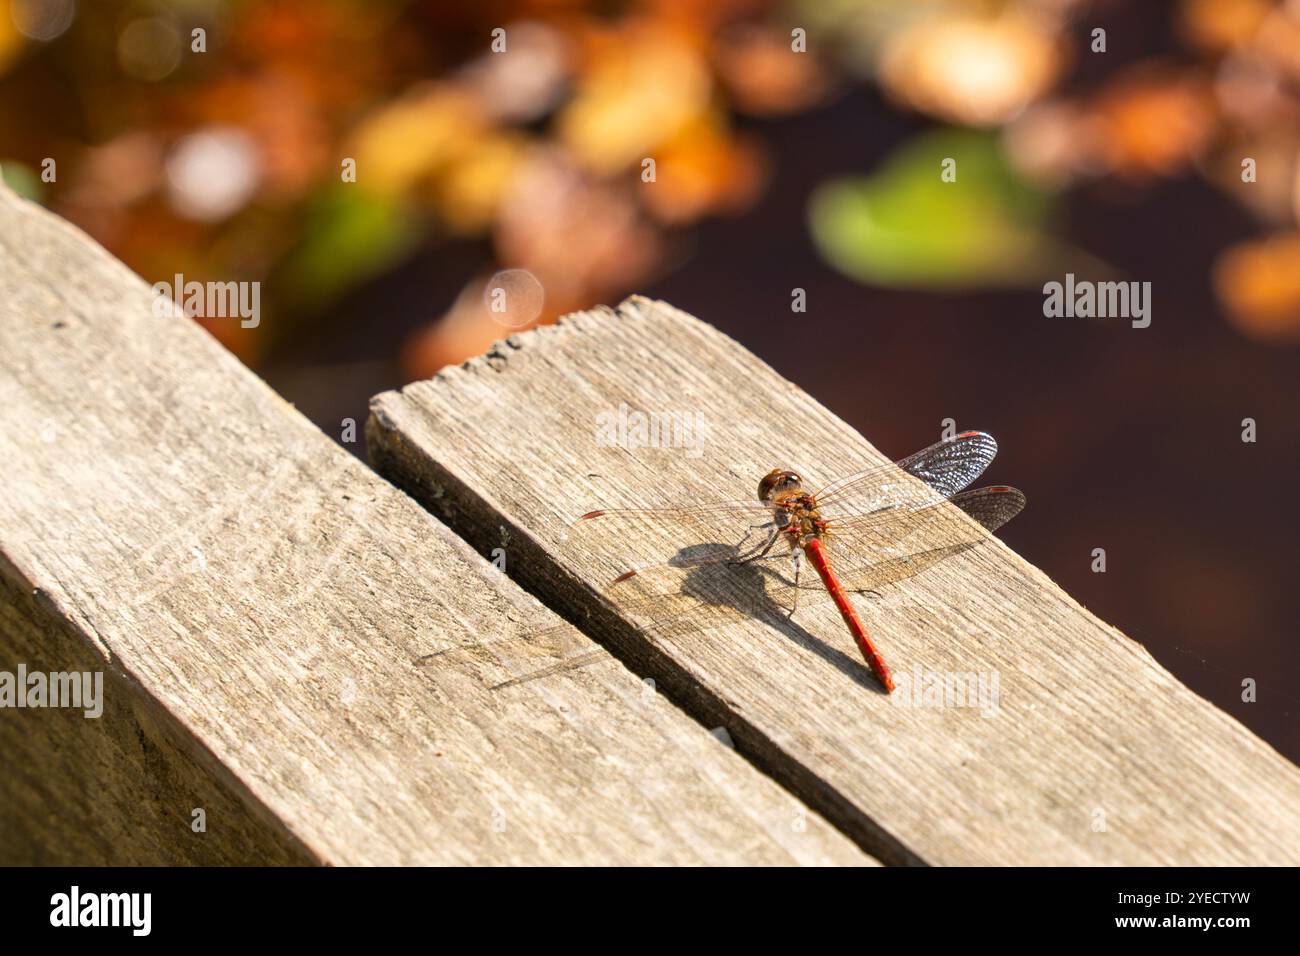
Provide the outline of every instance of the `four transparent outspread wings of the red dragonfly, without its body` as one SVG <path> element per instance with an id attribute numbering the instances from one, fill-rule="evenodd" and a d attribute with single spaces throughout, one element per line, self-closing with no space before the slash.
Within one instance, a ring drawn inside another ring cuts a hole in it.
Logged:
<path id="1" fill-rule="evenodd" d="M 965 432 L 824 488 L 816 498 L 829 522 L 827 544 L 841 583 L 870 591 L 904 580 L 987 540 L 978 525 L 993 531 L 1019 512 L 1024 496 L 1015 489 L 962 490 L 996 453 L 991 436 Z M 978 525 L 944 509 L 949 499 Z M 771 528 L 771 511 L 754 501 L 606 509 L 569 525 L 564 554 L 589 575 L 606 576 L 610 584 L 602 593 L 647 633 L 688 636 L 793 606 L 796 588 L 783 561 L 788 546 L 774 549 L 768 559 L 734 563 L 762 545 Z M 803 601 L 828 597 L 815 579 L 803 587 L 809 588 Z M 602 659 L 593 653 L 555 653 L 549 645 L 534 641 L 524 657 L 541 650 L 541 666 L 498 685 Z"/>

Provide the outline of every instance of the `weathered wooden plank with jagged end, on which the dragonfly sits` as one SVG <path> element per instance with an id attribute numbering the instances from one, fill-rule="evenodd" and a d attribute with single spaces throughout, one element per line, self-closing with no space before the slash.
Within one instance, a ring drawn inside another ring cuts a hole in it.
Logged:
<path id="1" fill-rule="evenodd" d="M 598 416 L 620 405 L 703 415 L 702 454 L 601 441 Z M 724 724 L 757 763 L 887 861 L 1300 861 L 1300 770 L 1001 542 L 862 602 L 914 685 L 918 669 L 922 683 L 996 676 L 988 715 L 904 706 L 906 693 L 880 692 L 826 606 L 789 626 L 750 620 L 658 640 L 614 613 L 593 589 L 607 567 L 562 541 L 576 515 L 718 489 L 746 498 L 774 466 L 802 470 L 816 486 L 885 460 L 670 306 L 634 298 L 517 336 L 380 395 L 370 432 L 384 473 L 481 550 L 504 544 L 530 591 L 575 619 L 589 615 L 585 630 L 633 670 Z M 1014 476 L 994 463 L 991 477 Z M 1028 490 L 1018 520 L 1035 520 Z M 649 544 L 625 542 L 630 564 Z"/>

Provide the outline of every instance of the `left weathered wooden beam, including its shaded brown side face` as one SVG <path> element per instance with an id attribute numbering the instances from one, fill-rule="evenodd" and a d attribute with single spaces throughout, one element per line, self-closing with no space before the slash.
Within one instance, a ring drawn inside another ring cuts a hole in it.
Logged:
<path id="1" fill-rule="evenodd" d="M 0 670 L 109 698 L 0 710 L 0 860 L 871 862 L 616 662 L 438 656 L 558 619 L 152 306 L 0 190 Z"/>

